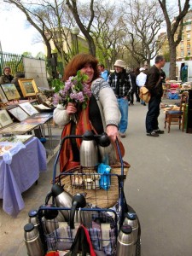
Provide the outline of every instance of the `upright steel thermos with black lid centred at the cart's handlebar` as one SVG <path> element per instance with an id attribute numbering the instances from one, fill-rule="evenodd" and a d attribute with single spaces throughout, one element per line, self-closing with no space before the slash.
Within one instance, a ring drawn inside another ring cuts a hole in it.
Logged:
<path id="1" fill-rule="evenodd" d="M 91 131 L 84 132 L 79 154 L 81 166 L 95 167 L 98 165 L 98 149 L 94 135 Z"/>

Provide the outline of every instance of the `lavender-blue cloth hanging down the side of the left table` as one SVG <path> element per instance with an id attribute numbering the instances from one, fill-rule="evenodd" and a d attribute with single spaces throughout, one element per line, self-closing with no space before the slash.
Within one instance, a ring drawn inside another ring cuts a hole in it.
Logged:
<path id="1" fill-rule="evenodd" d="M 26 148 L 13 156 L 10 165 L 0 159 L 0 198 L 3 210 L 16 217 L 25 207 L 21 193 L 38 180 L 39 172 L 46 171 L 46 151 L 37 137 L 26 142 Z"/>

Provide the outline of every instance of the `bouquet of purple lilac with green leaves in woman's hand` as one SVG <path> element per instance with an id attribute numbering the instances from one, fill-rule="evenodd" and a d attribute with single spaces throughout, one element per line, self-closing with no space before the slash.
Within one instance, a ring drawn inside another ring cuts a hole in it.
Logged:
<path id="1" fill-rule="evenodd" d="M 70 77 L 65 84 L 61 83 L 60 90 L 54 95 L 54 104 L 66 106 L 68 102 L 73 102 L 78 108 L 85 109 L 91 96 L 89 85 L 85 84 L 87 79 L 87 75 L 78 71 L 75 77 Z"/>

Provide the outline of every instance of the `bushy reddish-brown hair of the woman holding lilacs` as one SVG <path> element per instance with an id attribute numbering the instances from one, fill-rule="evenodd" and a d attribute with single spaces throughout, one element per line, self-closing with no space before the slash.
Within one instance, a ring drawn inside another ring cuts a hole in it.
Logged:
<path id="1" fill-rule="evenodd" d="M 63 80 L 67 81 L 69 77 L 75 76 L 85 64 L 90 64 L 93 67 L 93 80 L 98 79 L 100 77 L 100 73 L 97 67 L 98 61 L 96 58 L 90 54 L 80 53 L 79 55 L 75 55 L 65 67 Z"/>

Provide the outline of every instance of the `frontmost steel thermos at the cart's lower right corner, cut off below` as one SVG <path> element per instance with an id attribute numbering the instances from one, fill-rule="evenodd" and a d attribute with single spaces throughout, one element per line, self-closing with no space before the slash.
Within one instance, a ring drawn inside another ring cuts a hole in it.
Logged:
<path id="1" fill-rule="evenodd" d="M 122 225 L 117 241 L 117 256 L 133 256 L 133 233 L 130 225 Z"/>

